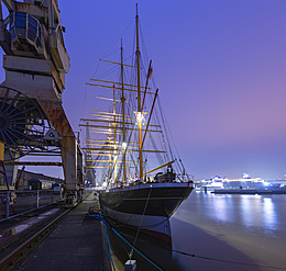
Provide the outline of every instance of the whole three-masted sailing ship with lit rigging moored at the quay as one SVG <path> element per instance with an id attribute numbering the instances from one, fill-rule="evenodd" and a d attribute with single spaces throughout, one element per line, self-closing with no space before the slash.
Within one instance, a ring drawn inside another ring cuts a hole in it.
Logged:
<path id="1" fill-rule="evenodd" d="M 97 110 L 90 114 L 92 118 L 81 118 L 80 126 L 87 127 L 82 149 L 86 168 L 102 180 L 99 202 L 106 218 L 170 242 L 169 217 L 193 191 L 193 177 L 172 150 L 158 89 L 152 80 L 152 61 L 144 69 L 138 12 L 135 33 L 133 64 L 124 61 L 122 39 L 120 61 L 100 59 L 120 67 L 119 79 L 92 78 L 87 83 L 105 89 L 106 94 L 109 91 L 110 98 L 98 98 L 110 104 L 108 111 Z M 89 131 L 97 135 L 95 139 Z"/>

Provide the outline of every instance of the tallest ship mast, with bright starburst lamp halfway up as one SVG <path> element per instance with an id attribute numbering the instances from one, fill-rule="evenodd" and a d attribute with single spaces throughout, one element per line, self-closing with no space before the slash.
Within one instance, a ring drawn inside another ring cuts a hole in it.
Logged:
<path id="1" fill-rule="evenodd" d="M 136 61 L 138 61 L 138 125 L 139 125 L 139 165 L 140 180 L 143 181 L 143 156 L 142 156 L 142 109 L 141 109 L 141 86 L 140 86 L 140 49 L 139 49 L 139 15 L 136 3 Z"/>

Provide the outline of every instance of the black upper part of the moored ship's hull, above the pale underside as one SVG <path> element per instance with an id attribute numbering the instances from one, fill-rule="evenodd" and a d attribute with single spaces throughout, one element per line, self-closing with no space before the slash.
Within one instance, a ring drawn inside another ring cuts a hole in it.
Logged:
<path id="1" fill-rule="evenodd" d="M 138 184 L 101 192 L 99 201 L 120 213 L 169 217 L 191 191 L 191 183 Z"/>

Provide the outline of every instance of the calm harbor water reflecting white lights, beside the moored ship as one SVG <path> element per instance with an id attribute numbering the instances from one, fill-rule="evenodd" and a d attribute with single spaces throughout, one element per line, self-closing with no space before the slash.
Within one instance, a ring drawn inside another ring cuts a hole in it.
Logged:
<path id="1" fill-rule="evenodd" d="M 286 270 L 286 195 L 194 191 L 170 225 L 172 248 L 145 238 L 136 240 L 138 248 L 163 270 Z M 124 270 L 130 250 L 110 237 L 117 270 Z M 136 253 L 134 258 L 139 259 L 138 270 L 157 270 Z"/>

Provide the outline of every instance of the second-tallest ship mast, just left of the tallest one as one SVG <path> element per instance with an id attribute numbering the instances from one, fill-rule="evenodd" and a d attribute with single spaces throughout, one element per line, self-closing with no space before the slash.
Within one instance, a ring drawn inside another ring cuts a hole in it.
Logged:
<path id="1" fill-rule="evenodd" d="M 125 97 L 124 97 L 124 83 L 123 83 L 123 47 L 121 39 L 121 104 L 122 104 L 122 148 L 123 148 L 123 182 L 127 181 L 127 140 L 125 140 Z"/>

